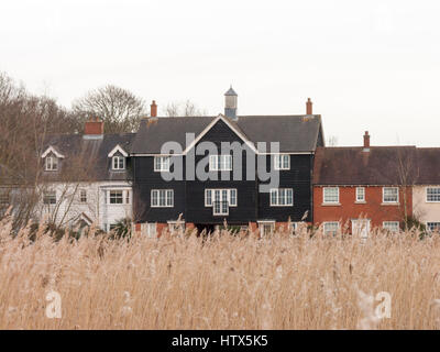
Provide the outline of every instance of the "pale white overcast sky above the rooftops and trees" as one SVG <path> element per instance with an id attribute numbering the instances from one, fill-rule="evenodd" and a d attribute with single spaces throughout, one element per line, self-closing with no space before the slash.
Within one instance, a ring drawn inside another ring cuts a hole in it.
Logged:
<path id="1" fill-rule="evenodd" d="M 114 84 L 161 107 L 299 114 L 339 145 L 440 146 L 439 1 L 0 2 L 0 70 L 69 107 Z M 161 111 L 161 110 L 160 110 Z"/>

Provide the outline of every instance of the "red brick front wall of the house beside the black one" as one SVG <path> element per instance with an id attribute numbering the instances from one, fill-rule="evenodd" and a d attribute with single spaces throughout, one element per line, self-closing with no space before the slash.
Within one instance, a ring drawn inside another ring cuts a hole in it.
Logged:
<path id="1" fill-rule="evenodd" d="M 323 187 L 314 187 L 314 221 L 320 224 L 324 221 L 346 221 L 361 218 L 361 215 L 371 219 L 371 227 L 382 227 L 383 221 L 403 221 L 404 193 L 399 189 L 399 205 L 382 205 L 382 188 L 378 186 L 365 187 L 365 204 L 355 204 L 356 187 L 339 187 L 339 202 L 341 206 L 323 206 Z M 413 215 L 413 188 L 406 187 L 407 215 Z"/>

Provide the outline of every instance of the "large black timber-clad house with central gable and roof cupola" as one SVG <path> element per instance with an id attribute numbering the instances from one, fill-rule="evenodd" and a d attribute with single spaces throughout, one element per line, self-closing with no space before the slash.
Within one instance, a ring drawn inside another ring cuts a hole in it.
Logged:
<path id="1" fill-rule="evenodd" d="M 153 102 L 152 112 L 156 109 Z M 311 113 L 310 100 L 305 116 L 240 117 L 231 88 L 226 94 L 224 110 L 224 116 L 218 117 L 157 118 L 152 113 L 152 118 L 142 120 L 131 150 L 138 231 L 161 232 L 164 227 L 183 224 L 211 230 L 224 221 L 273 231 L 276 224 L 289 220 L 312 221 L 314 154 L 324 142 L 321 117 Z M 164 152 L 168 142 L 180 148 Z M 242 146 L 245 153 L 241 161 L 235 153 L 221 152 L 224 142 Z M 278 142 L 279 148 L 271 142 Z M 208 152 L 209 143 L 216 146 L 216 153 Z M 266 150 L 260 143 L 265 143 Z M 249 155 L 255 165 L 248 165 Z M 187 167 L 193 158 L 195 166 Z M 261 179 L 256 166 L 262 160 L 267 172 L 276 165 L 279 175 L 279 185 L 266 191 L 260 189 L 267 182 Z M 197 167 L 208 179 L 198 177 Z M 233 175 L 239 168 L 242 177 L 237 179 Z M 254 172 L 253 177 L 246 178 L 248 168 Z M 183 177 L 168 180 L 177 170 Z"/>

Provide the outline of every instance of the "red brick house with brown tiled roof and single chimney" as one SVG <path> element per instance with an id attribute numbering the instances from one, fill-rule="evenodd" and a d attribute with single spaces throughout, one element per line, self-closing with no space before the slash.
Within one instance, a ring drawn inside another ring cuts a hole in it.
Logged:
<path id="1" fill-rule="evenodd" d="M 398 231 L 413 216 L 415 146 L 319 147 L 314 166 L 314 222 L 326 233 L 341 227 L 366 235 Z"/>

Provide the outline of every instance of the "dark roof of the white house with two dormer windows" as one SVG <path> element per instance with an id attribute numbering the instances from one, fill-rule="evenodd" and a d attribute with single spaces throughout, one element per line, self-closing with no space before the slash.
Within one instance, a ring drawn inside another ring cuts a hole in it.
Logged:
<path id="1" fill-rule="evenodd" d="M 84 139 L 81 134 L 58 134 L 50 136 L 45 146 L 54 146 L 65 158 L 62 163 L 69 163 L 74 156 L 81 156 L 92 163 L 94 180 L 127 180 L 128 172 L 113 172 L 110 169 L 111 161 L 108 154 L 120 145 L 127 153 L 130 153 L 131 144 L 135 133 L 105 134 L 102 139 Z M 59 172 L 44 172 L 46 180 L 58 180 L 64 165 Z"/>

